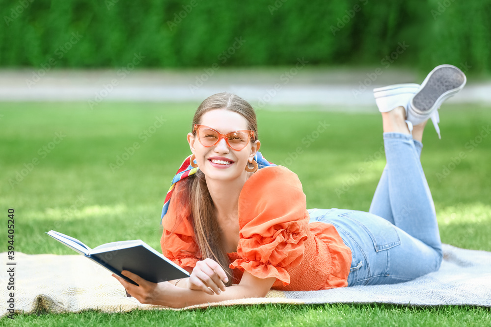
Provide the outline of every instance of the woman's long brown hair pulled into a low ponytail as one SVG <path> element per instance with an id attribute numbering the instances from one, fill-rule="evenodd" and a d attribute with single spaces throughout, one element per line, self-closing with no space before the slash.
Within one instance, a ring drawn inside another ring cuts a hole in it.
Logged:
<path id="1" fill-rule="evenodd" d="M 214 109 L 225 109 L 237 112 L 247 121 L 247 129 L 254 131 L 254 140 L 257 141 L 256 113 L 252 106 L 244 99 L 231 93 L 217 93 L 201 102 L 194 113 L 191 132 L 195 124 L 201 124 L 203 114 Z M 195 132 L 193 132 L 195 133 Z M 217 212 L 206 185 L 205 175 L 201 170 L 181 181 L 185 182 L 183 191 L 188 195 L 191 224 L 194 228 L 196 244 L 201 252 L 202 259 L 210 258 L 217 261 L 228 275 L 227 286 L 232 285 L 232 270 L 229 268 L 229 259 L 222 242 L 222 230 L 218 225 Z"/>

